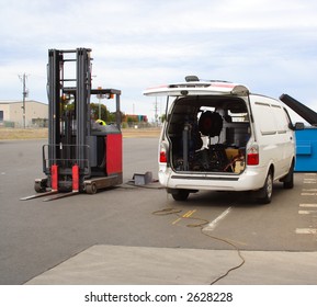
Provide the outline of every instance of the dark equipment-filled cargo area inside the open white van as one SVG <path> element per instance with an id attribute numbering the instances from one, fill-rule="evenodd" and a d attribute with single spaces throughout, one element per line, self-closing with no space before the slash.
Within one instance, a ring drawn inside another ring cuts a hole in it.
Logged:
<path id="1" fill-rule="evenodd" d="M 177 171 L 241 172 L 250 135 L 240 99 L 182 98 L 169 118 L 171 167 Z"/>

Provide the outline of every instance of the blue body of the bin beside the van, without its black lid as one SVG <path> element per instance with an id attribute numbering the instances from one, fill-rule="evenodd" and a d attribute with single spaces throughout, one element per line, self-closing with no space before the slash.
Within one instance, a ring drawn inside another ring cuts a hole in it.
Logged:
<path id="1" fill-rule="evenodd" d="M 296 172 L 317 171 L 317 127 L 296 130 Z"/>

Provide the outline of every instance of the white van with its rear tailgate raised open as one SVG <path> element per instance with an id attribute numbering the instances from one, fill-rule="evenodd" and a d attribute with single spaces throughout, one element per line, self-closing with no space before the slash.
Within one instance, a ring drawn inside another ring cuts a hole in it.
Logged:
<path id="1" fill-rule="evenodd" d="M 165 95 L 159 182 L 176 201 L 199 190 L 257 191 L 270 203 L 273 182 L 293 187 L 295 134 L 282 102 L 241 84 L 201 81 L 150 88 Z"/>

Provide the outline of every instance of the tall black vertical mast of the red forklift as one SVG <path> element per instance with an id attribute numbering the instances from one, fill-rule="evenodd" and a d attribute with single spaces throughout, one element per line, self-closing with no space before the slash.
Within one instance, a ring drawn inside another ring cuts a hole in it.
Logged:
<path id="1" fill-rule="evenodd" d="M 83 169 L 87 154 L 82 148 L 87 146 L 87 135 L 90 133 L 90 90 L 91 90 L 91 62 L 90 49 L 79 48 L 77 50 L 56 50 L 48 52 L 48 159 L 56 163 L 61 158 L 63 152 L 58 145 L 75 145 L 76 152 L 72 158 L 77 161 L 80 169 Z M 70 54 L 73 58 L 65 58 Z M 76 64 L 75 78 L 66 78 L 66 64 Z M 71 86 L 68 86 L 71 84 Z M 64 110 L 64 101 L 73 94 L 75 112 Z M 70 114 L 67 114 L 70 113 Z M 72 123 L 71 123 L 72 122 Z M 76 127 L 71 124 L 76 123 Z M 71 137 L 72 129 L 76 128 L 75 139 Z"/>

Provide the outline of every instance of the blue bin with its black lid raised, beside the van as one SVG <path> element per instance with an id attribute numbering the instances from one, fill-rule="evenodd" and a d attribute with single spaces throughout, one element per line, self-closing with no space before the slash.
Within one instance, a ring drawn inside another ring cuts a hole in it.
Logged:
<path id="1" fill-rule="evenodd" d="M 301 115 L 312 126 L 295 129 L 297 172 L 317 171 L 317 113 L 287 94 L 280 96 L 285 104 Z"/>

